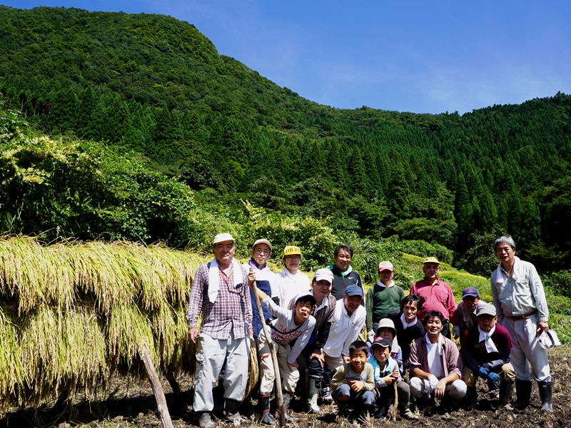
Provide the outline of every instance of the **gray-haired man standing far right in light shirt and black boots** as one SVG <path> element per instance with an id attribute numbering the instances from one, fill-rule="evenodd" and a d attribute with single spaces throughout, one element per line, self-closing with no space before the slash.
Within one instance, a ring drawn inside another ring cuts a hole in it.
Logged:
<path id="1" fill-rule="evenodd" d="M 492 297 L 498 322 L 510 333 L 513 348 L 511 362 L 517 377 L 515 392 L 517 409 L 525 409 L 531 397 L 531 364 L 533 379 L 540 390 L 541 409 L 553 412 L 551 374 L 547 352 L 537 337 L 549 330 L 549 310 L 545 291 L 535 266 L 515 255 L 515 242 L 510 236 L 497 238 L 495 255 L 500 260 L 492 272 Z"/>

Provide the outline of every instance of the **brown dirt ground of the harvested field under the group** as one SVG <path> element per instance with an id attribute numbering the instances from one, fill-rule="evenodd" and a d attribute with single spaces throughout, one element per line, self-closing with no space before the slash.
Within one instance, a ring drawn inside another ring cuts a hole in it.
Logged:
<path id="1" fill-rule="evenodd" d="M 540 399 L 537 384 L 533 382 L 532 402 L 523 412 L 507 412 L 495 410 L 494 400 L 488 397 L 484 382 L 479 382 L 480 408 L 467 412 L 463 409 L 452 414 L 433 414 L 422 417 L 420 422 L 397 421 L 388 419 L 362 419 L 350 422 L 347 419 L 335 418 L 335 405 L 321 406 L 323 414 L 305 414 L 301 402 L 294 402 L 293 416 L 298 422 L 288 424 L 289 427 L 413 427 L 419 423 L 425 427 L 571 427 L 571 345 L 562 345 L 550 350 L 550 365 L 553 377 L 553 414 L 540 412 Z M 191 379 L 178 379 L 181 384 L 181 396 L 173 397 L 168 382 L 163 382 L 169 411 L 174 427 L 192 427 L 197 425 L 196 414 L 192 412 Z M 514 393 L 515 399 L 515 393 Z M 100 427 L 100 428 L 149 428 L 160 427 L 156 402 L 148 382 L 134 382 L 133 379 L 117 378 L 113 384 L 113 392 L 106 397 L 96 397 L 86 401 L 79 397 L 64 412 L 54 414 L 51 406 L 45 404 L 37 409 L 23 409 L 10 412 L 0 420 L 0 427 Z M 241 414 L 257 419 L 256 400 L 246 399 L 241 407 Z M 217 427 L 225 424 L 218 420 Z M 263 427 L 255 424 L 254 426 Z M 277 426 L 277 424 L 276 424 Z"/>

